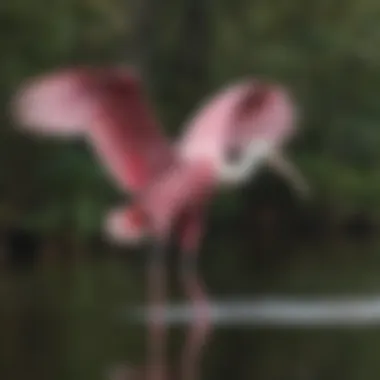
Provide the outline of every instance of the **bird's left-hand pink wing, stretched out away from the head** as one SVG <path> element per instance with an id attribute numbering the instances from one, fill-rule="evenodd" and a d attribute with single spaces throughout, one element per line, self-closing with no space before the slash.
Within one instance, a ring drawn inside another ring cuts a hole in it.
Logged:
<path id="1" fill-rule="evenodd" d="M 85 136 L 125 191 L 144 188 L 173 160 L 141 84 L 127 68 L 73 68 L 37 77 L 13 111 L 34 133 Z"/>

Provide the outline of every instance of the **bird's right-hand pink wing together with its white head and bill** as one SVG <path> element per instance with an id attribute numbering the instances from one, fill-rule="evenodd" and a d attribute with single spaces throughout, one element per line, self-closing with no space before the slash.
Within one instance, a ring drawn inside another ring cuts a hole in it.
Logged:
<path id="1" fill-rule="evenodd" d="M 298 112 L 279 85 L 246 80 L 220 91 L 187 126 L 178 150 L 189 160 L 207 158 L 226 184 L 241 183 L 263 163 L 301 194 L 308 186 L 281 148 L 295 132 Z M 240 160 L 233 163 L 229 153 Z"/>

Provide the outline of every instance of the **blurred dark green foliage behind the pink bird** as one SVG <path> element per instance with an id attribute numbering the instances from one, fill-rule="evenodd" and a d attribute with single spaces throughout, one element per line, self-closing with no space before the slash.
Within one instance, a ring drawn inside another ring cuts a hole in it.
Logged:
<path id="1" fill-rule="evenodd" d="M 291 150 L 314 189 L 311 203 L 330 209 L 334 220 L 358 212 L 376 219 L 379 12 L 370 0 L 4 2 L 2 224 L 43 234 L 63 226 L 78 236 L 99 231 L 117 194 L 88 147 L 30 140 L 12 126 L 8 101 L 31 75 L 75 63 L 120 62 L 142 68 L 173 138 L 197 104 L 226 82 L 252 75 L 286 84 L 303 116 Z M 256 187 L 249 185 L 253 192 Z M 223 210 L 239 207 L 238 199 L 237 193 L 223 198 L 216 212 L 228 215 Z"/>

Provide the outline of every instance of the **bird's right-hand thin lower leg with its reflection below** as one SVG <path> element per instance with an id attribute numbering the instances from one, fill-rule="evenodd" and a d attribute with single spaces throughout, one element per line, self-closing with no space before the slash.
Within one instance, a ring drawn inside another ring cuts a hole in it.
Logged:
<path id="1" fill-rule="evenodd" d="M 196 270 L 195 255 L 185 254 L 181 262 L 184 291 L 193 305 L 195 316 L 189 327 L 180 362 L 181 380 L 198 380 L 202 348 L 211 331 L 210 308 L 205 287 Z"/>

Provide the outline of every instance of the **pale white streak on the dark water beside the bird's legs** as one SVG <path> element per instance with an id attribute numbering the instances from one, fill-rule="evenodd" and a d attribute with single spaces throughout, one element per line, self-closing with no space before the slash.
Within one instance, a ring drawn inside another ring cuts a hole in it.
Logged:
<path id="1" fill-rule="evenodd" d="M 368 297 L 264 297 L 208 304 L 208 321 L 221 326 L 333 327 L 380 326 L 380 296 Z M 193 318 L 186 306 L 168 307 L 164 323 L 187 323 Z"/>

